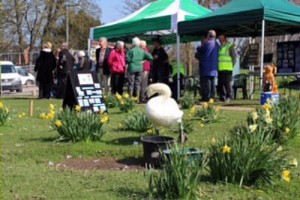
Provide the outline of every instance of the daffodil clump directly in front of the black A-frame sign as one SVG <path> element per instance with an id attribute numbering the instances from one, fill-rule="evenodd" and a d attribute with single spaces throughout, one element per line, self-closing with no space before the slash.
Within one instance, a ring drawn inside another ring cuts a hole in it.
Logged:
<path id="1" fill-rule="evenodd" d="M 109 118 L 106 114 L 78 112 L 65 109 L 52 120 L 52 127 L 59 133 L 59 141 L 100 141 L 106 133 Z"/>

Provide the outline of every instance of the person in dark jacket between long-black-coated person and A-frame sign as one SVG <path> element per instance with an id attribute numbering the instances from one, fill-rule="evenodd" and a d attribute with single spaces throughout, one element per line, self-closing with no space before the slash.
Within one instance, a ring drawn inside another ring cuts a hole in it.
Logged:
<path id="1" fill-rule="evenodd" d="M 63 43 L 58 54 L 57 66 L 57 98 L 65 96 L 67 74 L 73 71 L 75 59 L 69 52 L 68 43 Z"/>

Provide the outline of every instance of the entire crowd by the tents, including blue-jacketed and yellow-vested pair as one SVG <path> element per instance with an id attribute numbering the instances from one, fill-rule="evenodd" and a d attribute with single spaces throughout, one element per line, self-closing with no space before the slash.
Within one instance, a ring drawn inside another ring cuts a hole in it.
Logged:
<path id="1" fill-rule="evenodd" d="M 235 50 L 225 35 L 219 35 L 210 30 L 201 46 L 197 48 L 196 58 L 199 60 L 199 74 L 202 101 L 209 101 L 216 96 L 215 80 L 218 77 L 217 92 L 221 101 L 232 99 L 231 79 L 235 64 Z M 66 88 L 67 74 L 71 71 L 95 71 L 103 88 L 103 93 L 122 95 L 125 83 L 130 96 L 138 97 L 139 102 L 146 102 L 146 88 L 151 83 L 165 83 L 172 89 L 172 97 L 178 100 L 177 80 L 179 73 L 180 88 L 183 87 L 185 67 L 177 62 L 170 62 L 169 56 L 162 46 L 162 41 L 154 40 L 153 50 L 147 47 L 144 40 L 135 37 L 131 48 L 123 41 L 117 41 L 114 47 L 108 45 L 105 37 L 99 39 L 99 48 L 92 61 L 85 51 L 72 55 L 67 43 L 63 43 L 53 54 L 52 45 L 43 45 L 35 65 L 40 98 L 63 98 Z M 57 83 L 53 83 L 53 74 Z M 169 80 L 173 79 L 173 82 Z M 55 87 L 53 87 L 55 86 Z"/>

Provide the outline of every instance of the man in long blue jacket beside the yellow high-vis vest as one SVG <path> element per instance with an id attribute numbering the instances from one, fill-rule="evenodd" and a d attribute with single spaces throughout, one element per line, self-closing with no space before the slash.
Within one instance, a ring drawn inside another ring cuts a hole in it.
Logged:
<path id="1" fill-rule="evenodd" d="M 218 75 L 218 56 L 220 45 L 216 41 L 216 32 L 208 31 L 207 38 L 197 48 L 199 60 L 201 96 L 203 101 L 215 97 L 215 77 Z"/>

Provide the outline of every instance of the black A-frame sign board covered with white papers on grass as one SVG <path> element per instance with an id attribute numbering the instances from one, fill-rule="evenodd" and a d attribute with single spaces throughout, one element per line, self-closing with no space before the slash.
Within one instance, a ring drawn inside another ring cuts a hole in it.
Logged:
<path id="1" fill-rule="evenodd" d="M 80 105 L 83 111 L 107 112 L 97 74 L 71 72 L 68 74 L 63 107 Z"/>

